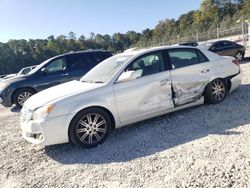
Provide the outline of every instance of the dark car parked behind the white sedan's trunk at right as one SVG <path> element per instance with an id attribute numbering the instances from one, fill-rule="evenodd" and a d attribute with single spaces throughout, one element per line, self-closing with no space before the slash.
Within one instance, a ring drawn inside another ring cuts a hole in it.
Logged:
<path id="1" fill-rule="evenodd" d="M 232 41 L 221 40 L 213 43 L 208 50 L 222 56 L 232 56 L 241 61 L 245 56 L 246 48 Z"/>

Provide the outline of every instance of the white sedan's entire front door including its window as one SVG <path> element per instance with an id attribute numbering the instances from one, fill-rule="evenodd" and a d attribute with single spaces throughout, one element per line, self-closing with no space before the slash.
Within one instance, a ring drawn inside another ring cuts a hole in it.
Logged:
<path id="1" fill-rule="evenodd" d="M 121 122 L 145 119 L 174 107 L 171 77 L 161 52 L 137 58 L 124 71 L 140 72 L 137 79 L 114 84 Z"/>

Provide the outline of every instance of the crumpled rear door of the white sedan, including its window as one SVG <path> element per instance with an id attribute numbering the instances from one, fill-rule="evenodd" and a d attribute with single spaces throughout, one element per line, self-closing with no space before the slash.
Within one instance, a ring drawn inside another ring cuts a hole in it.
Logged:
<path id="1" fill-rule="evenodd" d="M 171 62 L 171 78 L 176 106 L 200 99 L 213 67 L 207 57 L 197 49 L 168 50 Z"/>

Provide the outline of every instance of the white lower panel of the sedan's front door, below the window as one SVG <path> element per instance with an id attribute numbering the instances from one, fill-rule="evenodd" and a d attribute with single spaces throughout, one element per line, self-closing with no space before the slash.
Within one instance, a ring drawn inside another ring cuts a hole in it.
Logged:
<path id="1" fill-rule="evenodd" d="M 144 119 L 150 114 L 174 108 L 170 71 L 114 85 L 121 122 Z"/>

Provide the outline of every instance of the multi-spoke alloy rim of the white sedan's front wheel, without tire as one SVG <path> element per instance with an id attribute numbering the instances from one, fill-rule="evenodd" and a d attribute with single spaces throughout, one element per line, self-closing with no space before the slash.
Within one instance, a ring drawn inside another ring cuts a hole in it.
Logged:
<path id="1" fill-rule="evenodd" d="M 76 135 L 84 144 L 96 144 L 105 137 L 107 122 L 97 113 L 89 113 L 83 116 L 76 126 Z"/>

